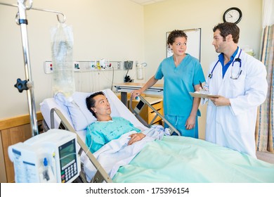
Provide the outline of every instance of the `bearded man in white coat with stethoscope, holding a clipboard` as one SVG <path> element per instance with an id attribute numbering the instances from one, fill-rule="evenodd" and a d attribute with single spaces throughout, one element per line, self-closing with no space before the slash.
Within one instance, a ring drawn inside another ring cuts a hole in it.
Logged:
<path id="1" fill-rule="evenodd" d="M 212 44 L 218 55 L 210 68 L 207 87 L 206 140 L 256 158 L 255 126 L 258 106 L 266 99 L 266 68 L 237 46 L 240 29 L 234 23 L 214 27 Z"/>

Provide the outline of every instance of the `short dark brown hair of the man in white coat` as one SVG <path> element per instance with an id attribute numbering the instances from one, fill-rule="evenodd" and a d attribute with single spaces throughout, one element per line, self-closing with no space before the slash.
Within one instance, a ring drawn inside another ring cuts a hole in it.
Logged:
<path id="1" fill-rule="evenodd" d="M 213 32 L 216 30 L 220 30 L 221 37 L 223 37 L 223 41 L 226 41 L 226 37 L 231 34 L 233 37 L 233 42 L 237 44 L 239 42 L 240 29 L 234 23 L 219 23 L 213 28 Z"/>

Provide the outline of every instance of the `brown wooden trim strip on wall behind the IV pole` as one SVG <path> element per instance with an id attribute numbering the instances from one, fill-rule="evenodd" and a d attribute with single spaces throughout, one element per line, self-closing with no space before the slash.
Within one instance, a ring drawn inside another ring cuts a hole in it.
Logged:
<path id="1" fill-rule="evenodd" d="M 43 120 L 43 115 L 41 112 L 37 112 L 37 121 L 40 120 Z M 30 124 L 30 115 L 19 115 L 16 117 L 6 118 L 0 120 L 0 131 L 26 124 Z"/>

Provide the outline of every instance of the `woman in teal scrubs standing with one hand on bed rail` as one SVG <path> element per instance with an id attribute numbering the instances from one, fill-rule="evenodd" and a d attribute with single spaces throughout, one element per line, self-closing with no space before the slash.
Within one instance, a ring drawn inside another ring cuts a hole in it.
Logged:
<path id="1" fill-rule="evenodd" d="M 198 91 L 205 79 L 197 58 L 185 53 L 187 39 L 182 30 L 174 30 L 169 34 L 167 46 L 173 51 L 173 56 L 165 58 L 156 74 L 141 89 L 133 91 L 131 96 L 139 96 L 164 77 L 164 117 L 181 135 L 198 138 L 200 98 L 193 98 L 189 92 Z"/>

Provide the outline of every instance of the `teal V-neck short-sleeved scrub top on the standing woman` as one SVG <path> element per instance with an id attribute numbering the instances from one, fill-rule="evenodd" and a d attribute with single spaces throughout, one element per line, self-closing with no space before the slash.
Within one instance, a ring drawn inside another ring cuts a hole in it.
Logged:
<path id="1" fill-rule="evenodd" d="M 160 63 L 155 79 L 164 77 L 164 115 L 189 116 L 193 108 L 194 86 L 205 82 L 202 66 L 197 58 L 186 54 L 176 67 L 173 56 Z M 200 116 L 200 110 L 197 115 Z"/>

